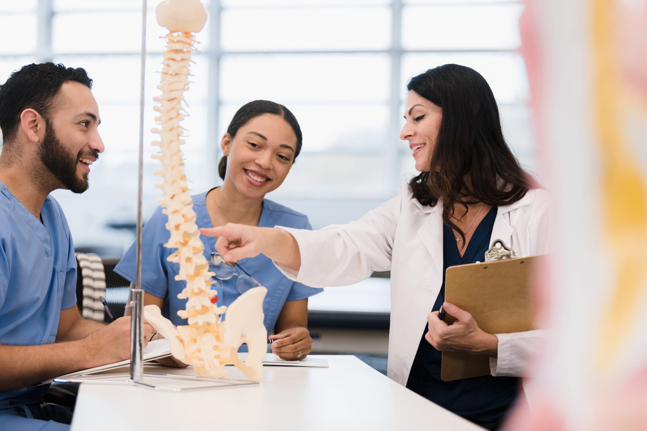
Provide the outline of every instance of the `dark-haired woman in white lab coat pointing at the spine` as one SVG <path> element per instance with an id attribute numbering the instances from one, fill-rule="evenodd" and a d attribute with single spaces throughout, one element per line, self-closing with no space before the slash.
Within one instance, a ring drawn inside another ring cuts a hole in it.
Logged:
<path id="1" fill-rule="evenodd" d="M 412 78 L 407 90 L 400 138 L 421 174 L 395 198 L 356 222 L 319 231 L 226 225 L 203 233 L 219 237 L 216 249 L 225 258 L 263 253 L 313 288 L 390 270 L 389 377 L 496 429 L 541 334 L 480 330 L 470 313 L 444 302 L 444 269 L 483 261 L 494 239 L 522 256 L 546 253 L 549 197 L 505 143 L 492 91 L 475 70 L 436 67 Z M 458 321 L 441 321 L 441 305 Z M 492 375 L 441 381 L 440 352 L 456 350 L 488 355 Z"/>

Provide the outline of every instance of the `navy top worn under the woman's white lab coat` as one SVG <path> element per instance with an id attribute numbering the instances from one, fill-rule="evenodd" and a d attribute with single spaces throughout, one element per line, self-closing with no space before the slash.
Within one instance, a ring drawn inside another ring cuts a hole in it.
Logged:
<path id="1" fill-rule="evenodd" d="M 481 220 L 462 258 L 456 247 L 454 232 L 450 227 L 443 226 L 443 286 L 431 311 L 440 310 L 443 305 L 444 278 L 448 267 L 485 260 L 485 251 L 490 248 L 496 212 L 497 208 L 493 207 Z M 488 429 L 498 427 L 516 399 L 519 378 L 487 375 L 442 381 L 442 353 L 424 339 L 427 331 L 428 327 L 425 325 L 406 387 L 478 425 Z"/>

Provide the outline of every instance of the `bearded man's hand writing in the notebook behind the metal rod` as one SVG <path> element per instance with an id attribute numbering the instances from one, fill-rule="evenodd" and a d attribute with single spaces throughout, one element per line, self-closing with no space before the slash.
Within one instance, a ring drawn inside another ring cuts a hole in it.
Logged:
<path id="1" fill-rule="evenodd" d="M 153 331 L 148 324 L 144 324 L 142 329 L 142 348 L 144 348 L 148 345 Z M 88 368 L 130 359 L 130 316 L 116 319 L 88 335 L 84 341 L 87 342 L 87 352 L 91 355 Z"/>

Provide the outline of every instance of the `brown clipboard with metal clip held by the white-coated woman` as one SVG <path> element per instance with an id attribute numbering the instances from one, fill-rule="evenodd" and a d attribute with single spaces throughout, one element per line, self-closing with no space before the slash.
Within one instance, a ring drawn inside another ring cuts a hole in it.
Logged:
<path id="1" fill-rule="evenodd" d="M 497 242 L 502 247 L 497 249 Z M 488 253 L 490 258 L 498 260 L 447 268 L 445 300 L 469 311 L 479 328 L 487 333 L 536 329 L 531 289 L 536 276 L 547 264 L 547 255 L 516 258 L 514 251 L 505 247 L 501 240 L 493 242 L 492 249 L 486 252 L 486 259 Z M 445 321 L 452 324 L 456 319 L 446 315 Z M 487 355 L 443 352 L 441 380 L 483 375 L 490 375 L 490 358 Z"/>

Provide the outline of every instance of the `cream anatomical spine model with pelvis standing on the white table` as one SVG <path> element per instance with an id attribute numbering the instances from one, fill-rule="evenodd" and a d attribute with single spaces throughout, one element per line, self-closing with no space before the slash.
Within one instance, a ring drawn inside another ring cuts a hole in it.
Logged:
<path id="1" fill-rule="evenodd" d="M 195 51 L 192 33 L 202 30 L 206 12 L 199 0 L 166 0 L 157 6 L 157 22 L 168 28 L 169 33 L 166 35 L 162 82 L 157 87 L 162 90 L 162 96 L 155 98 L 160 103 L 155 107 L 159 112 L 155 120 L 161 124 L 161 130 L 153 129 L 160 135 L 160 141 L 153 145 L 160 147 L 160 152 L 153 158 L 162 163 L 162 169 L 155 174 L 162 176 L 164 182 L 156 187 L 164 191 L 159 204 L 166 208 L 166 228 L 171 232 L 164 246 L 177 248 L 168 260 L 180 266 L 175 279 L 186 280 L 186 288 L 177 295 L 180 299 L 188 299 L 186 309 L 177 314 L 187 319 L 188 325 L 178 326 L 176 330 L 154 305 L 144 308 L 144 318 L 168 339 L 173 356 L 193 365 L 199 375 L 224 378 L 224 364 L 234 363 L 247 377 L 258 381 L 263 372 L 261 359 L 267 351 L 267 330 L 263 325 L 263 299 L 267 289 L 250 289 L 228 309 L 216 306 L 216 291 L 211 289 L 214 273 L 209 271 L 203 255 L 204 246 L 195 224 L 180 149 L 184 143 L 180 126 L 184 119 L 181 102 L 189 88 L 189 63 Z M 221 322 L 218 315 L 223 313 L 225 321 Z M 237 355 L 243 342 L 249 350 L 245 363 Z"/>

